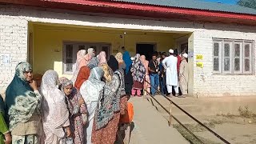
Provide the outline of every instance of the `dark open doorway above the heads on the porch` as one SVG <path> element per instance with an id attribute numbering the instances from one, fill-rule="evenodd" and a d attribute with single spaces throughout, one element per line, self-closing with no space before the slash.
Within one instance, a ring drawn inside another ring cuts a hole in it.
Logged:
<path id="1" fill-rule="evenodd" d="M 136 54 L 145 55 L 146 60 L 150 61 L 152 59 L 152 54 L 154 53 L 155 45 L 154 44 L 136 44 Z"/>

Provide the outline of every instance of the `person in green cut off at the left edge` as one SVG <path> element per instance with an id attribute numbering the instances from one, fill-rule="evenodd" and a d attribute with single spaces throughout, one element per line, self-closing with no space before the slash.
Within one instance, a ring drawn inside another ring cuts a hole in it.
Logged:
<path id="1" fill-rule="evenodd" d="M 3 102 L 2 96 L 0 95 L 0 143 L 10 144 L 11 136 L 8 126 L 6 124 L 6 112 L 4 110 L 5 103 Z"/>

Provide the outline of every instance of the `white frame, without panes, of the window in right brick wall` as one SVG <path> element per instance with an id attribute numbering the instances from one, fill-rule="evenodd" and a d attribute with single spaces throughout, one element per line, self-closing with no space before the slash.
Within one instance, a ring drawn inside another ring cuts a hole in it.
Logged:
<path id="1" fill-rule="evenodd" d="M 214 56 L 214 43 L 219 43 L 219 55 Z M 230 43 L 230 70 L 224 71 L 224 46 L 225 43 Z M 234 46 L 235 44 L 240 45 L 240 70 L 234 70 L 234 59 L 238 58 L 235 56 Z M 245 71 L 245 44 L 250 44 L 250 71 Z M 254 41 L 253 40 L 240 40 L 240 39 L 223 39 L 223 38 L 213 38 L 213 46 L 212 46 L 212 58 L 213 58 L 213 74 L 237 74 L 237 75 L 251 75 L 254 74 Z M 214 58 L 218 58 L 218 66 L 219 70 L 214 70 Z"/>

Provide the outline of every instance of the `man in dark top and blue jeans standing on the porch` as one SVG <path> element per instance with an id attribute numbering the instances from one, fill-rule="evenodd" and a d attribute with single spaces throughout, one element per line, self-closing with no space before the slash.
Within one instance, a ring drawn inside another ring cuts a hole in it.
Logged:
<path id="1" fill-rule="evenodd" d="M 150 71 L 150 83 L 151 86 L 151 94 L 154 96 L 156 94 L 156 89 L 158 89 L 159 85 L 159 67 L 158 67 L 158 61 L 157 61 L 157 54 L 152 55 L 152 60 L 150 60 L 149 63 L 149 71 Z"/>

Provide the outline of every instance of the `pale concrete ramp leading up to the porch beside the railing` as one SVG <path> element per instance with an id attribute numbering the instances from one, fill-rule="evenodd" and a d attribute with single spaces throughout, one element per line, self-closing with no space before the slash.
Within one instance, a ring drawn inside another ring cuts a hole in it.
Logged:
<path id="1" fill-rule="evenodd" d="M 170 126 L 162 115 L 142 97 L 130 98 L 134 105 L 134 130 L 130 144 L 186 144 L 189 143 Z"/>

